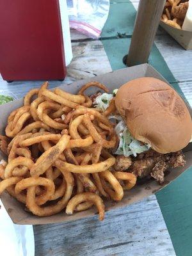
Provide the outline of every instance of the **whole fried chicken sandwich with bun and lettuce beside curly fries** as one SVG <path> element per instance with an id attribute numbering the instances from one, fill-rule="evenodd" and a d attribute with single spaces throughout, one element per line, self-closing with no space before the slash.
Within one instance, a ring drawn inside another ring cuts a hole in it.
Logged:
<path id="1" fill-rule="evenodd" d="M 164 182 L 168 168 L 184 166 L 182 149 L 191 140 L 191 115 L 173 88 L 159 79 L 141 77 L 115 91 L 119 139 L 115 170 Z M 114 95 L 113 95 L 114 96 Z M 110 96 L 112 97 L 112 96 Z M 106 93 L 95 99 L 107 104 Z"/>

